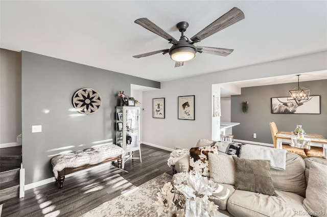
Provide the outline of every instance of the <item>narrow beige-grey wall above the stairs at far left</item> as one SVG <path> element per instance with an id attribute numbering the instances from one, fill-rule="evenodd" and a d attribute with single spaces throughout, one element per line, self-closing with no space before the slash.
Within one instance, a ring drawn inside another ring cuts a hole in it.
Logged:
<path id="1" fill-rule="evenodd" d="M 0 49 L 0 144 L 21 133 L 21 54 Z"/>

